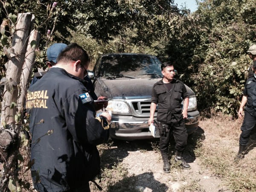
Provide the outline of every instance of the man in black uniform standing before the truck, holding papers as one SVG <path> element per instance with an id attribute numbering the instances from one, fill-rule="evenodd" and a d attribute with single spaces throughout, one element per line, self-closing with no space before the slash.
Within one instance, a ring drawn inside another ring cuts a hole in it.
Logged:
<path id="1" fill-rule="evenodd" d="M 168 159 L 168 145 L 171 131 L 175 139 L 175 160 L 180 162 L 184 168 L 190 168 L 189 164 L 183 159 L 183 151 L 187 144 L 187 131 L 184 119 L 187 118 L 189 105 L 189 95 L 183 82 L 174 79 L 175 71 L 171 62 L 161 65 L 163 79 L 153 86 L 150 118 L 148 125 L 154 123 L 154 112 L 158 104 L 157 122 L 160 131 L 160 152 L 163 157 L 163 171 L 170 172 Z M 180 106 L 184 99 L 183 109 Z"/>

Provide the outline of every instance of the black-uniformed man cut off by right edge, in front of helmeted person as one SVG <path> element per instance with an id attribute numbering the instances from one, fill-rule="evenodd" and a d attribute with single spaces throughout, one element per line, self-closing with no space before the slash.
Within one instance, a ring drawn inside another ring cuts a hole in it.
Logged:
<path id="1" fill-rule="evenodd" d="M 239 152 L 236 156 L 236 160 L 240 160 L 244 157 L 244 151 L 248 144 L 250 134 L 253 131 L 256 124 L 256 62 L 253 64 L 253 76 L 250 77 L 245 84 L 241 105 L 238 111 L 239 117 L 243 117 L 244 109 L 244 121 L 241 125 L 241 134 L 239 139 Z"/>

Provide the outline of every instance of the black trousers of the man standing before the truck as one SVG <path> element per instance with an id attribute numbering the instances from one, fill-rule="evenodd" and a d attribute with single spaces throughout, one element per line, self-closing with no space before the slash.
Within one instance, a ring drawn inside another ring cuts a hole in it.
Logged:
<path id="1" fill-rule="evenodd" d="M 177 121 L 177 119 L 172 117 L 171 124 L 168 125 L 170 130 L 166 132 L 166 137 L 160 134 L 160 151 L 168 151 L 169 139 L 172 133 L 175 140 L 175 149 L 177 151 L 184 151 L 188 138 L 184 119 L 181 118 L 179 121 Z"/>

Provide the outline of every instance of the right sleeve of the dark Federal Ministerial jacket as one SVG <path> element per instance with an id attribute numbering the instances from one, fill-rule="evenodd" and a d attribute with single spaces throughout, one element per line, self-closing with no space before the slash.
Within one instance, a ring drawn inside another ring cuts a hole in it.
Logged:
<path id="1" fill-rule="evenodd" d="M 109 131 L 103 128 L 105 125 L 99 119 L 95 118 L 93 102 L 82 103 L 79 95 L 83 93 L 84 90 L 73 93 L 64 104 L 67 128 L 82 144 L 102 144 L 108 140 Z"/>

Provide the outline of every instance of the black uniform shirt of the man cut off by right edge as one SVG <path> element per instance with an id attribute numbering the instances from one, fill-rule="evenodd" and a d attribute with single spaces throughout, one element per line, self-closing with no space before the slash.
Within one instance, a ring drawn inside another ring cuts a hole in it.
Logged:
<path id="1" fill-rule="evenodd" d="M 245 110 L 253 115 L 256 111 L 256 79 L 254 76 L 246 81 L 243 94 L 247 96 Z"/>

